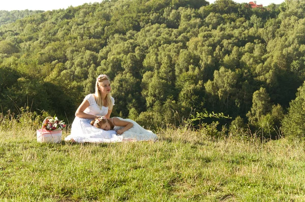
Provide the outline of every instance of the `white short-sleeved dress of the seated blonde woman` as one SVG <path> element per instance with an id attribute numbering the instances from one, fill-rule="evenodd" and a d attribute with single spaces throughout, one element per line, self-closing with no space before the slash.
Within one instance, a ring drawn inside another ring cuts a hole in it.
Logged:
<path id="1" fill-rule="evenodd" d="M 94 94 L 88 94 L 85 96 L 86 100 L 89 102 L 89 107 L 84 110 L 84 113 L 105 116 L 108 113 L 108 107 L 100 107 L 96 103 Z M 114 103 L 113 97 L 111 97 Z M 111 143 L 111 142 L 121 142 L 123 137 L 117 136 L 114 130 L 103 130 L 94 127 L 90 124 L 92 119 L 84 119 L 75 117 L 72 127 L 71 134 L 65 138 L 65 141 L 75 140 L 78 143 L 91 142 L 91 143 Z"/>

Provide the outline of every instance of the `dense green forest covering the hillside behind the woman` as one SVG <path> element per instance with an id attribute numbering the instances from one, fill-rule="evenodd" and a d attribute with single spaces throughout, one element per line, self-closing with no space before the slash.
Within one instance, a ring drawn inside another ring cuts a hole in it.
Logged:
<path id="1" fill-rule="evenodd" d="M 29 107 L 72 122 L 107 74 L 112 116 L 154 128 L 198 113 L 197 124 L 217 121 L 230 132 L 303 137 L 304 17 L 304 0 L 256 9 L 231 0 L 105 0 L 0 11 L 1 110 Z"/>

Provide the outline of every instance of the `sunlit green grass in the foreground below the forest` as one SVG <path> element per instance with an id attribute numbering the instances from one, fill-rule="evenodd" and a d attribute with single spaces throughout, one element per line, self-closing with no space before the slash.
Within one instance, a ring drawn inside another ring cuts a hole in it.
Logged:
<path id="1" fill-rule="evenodd" d="M 0 200 L 305 201 L 302 141 L 212 140 L 184 129 L 158 136 L 47 144 L 33 129 L 0 128 Z"/>

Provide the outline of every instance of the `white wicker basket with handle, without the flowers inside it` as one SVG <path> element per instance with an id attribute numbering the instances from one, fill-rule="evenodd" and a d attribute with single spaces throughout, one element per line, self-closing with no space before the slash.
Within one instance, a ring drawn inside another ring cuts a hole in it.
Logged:
<path id="1" fill-rule="evenodd" d="M 36 131 L 37 134 L 37 141 L 40 143 L 60 143 L 62 142 L 62 129 L 58 128 L 56 130 L 48 131 L 46 129 L 43 129 L 43 124 L 46 121 L 46 119 L 52 118 L 52 117 L 47 117 L 45 120 L 42 122 L 41 129 Z"/>

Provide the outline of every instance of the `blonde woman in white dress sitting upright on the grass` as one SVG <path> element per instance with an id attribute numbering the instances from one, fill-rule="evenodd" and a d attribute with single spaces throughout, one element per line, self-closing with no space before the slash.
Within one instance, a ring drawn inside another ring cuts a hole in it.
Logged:
<path id="1" fill-rule="evenodd" d="M 101 130 L 90 124 L 95 118 L 105 116 L 110 118 L 114 99 L 111 97 L 111 86 L 107 75 L 100 75 L 95 85 L 95 93 L 85 96 L 75 113 L 71 134 L 65 141 L 110 143 L 121 142 L 123 137 L 117 136 L 113 130 Z"/>

